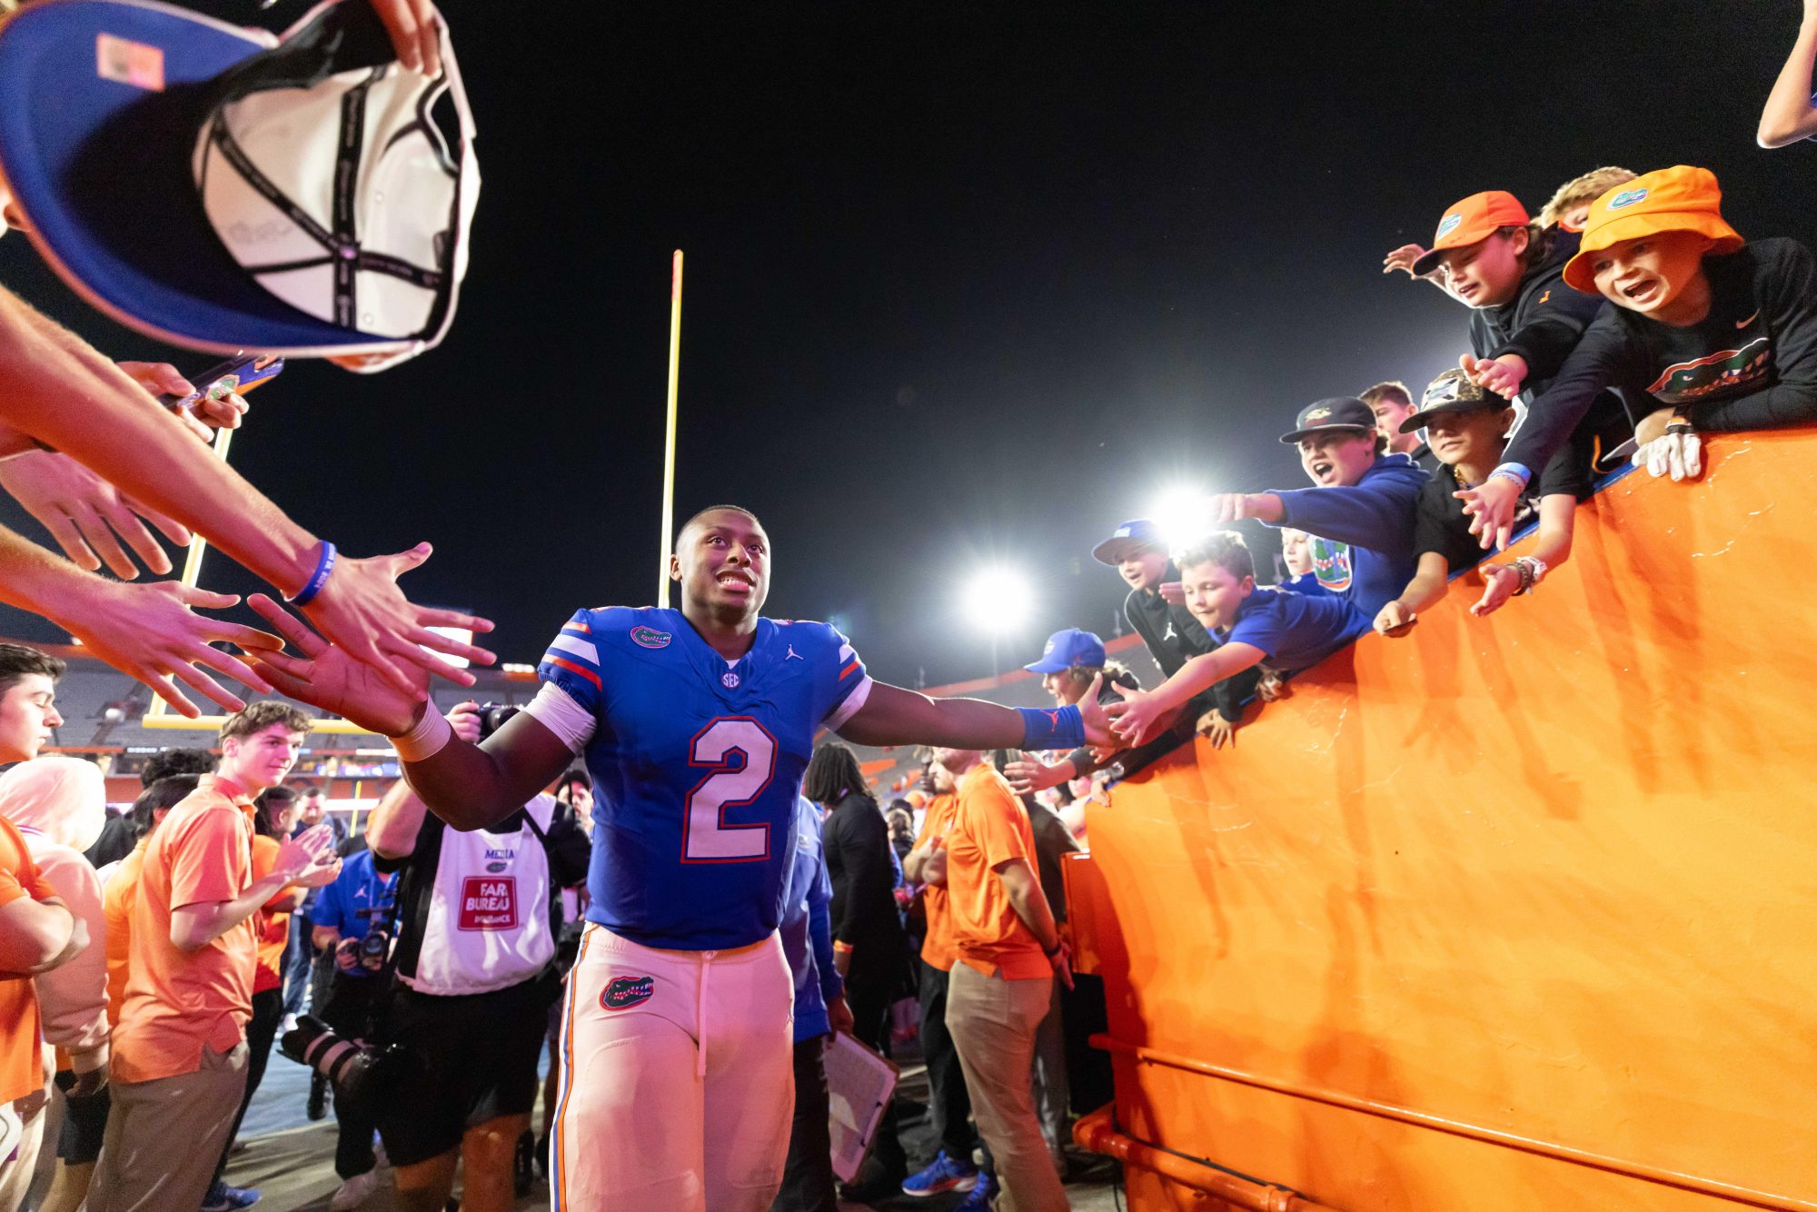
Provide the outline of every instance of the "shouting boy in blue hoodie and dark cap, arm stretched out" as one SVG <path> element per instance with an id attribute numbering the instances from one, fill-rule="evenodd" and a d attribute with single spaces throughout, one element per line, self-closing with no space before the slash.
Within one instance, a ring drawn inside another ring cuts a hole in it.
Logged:
<path id="1" fill-rule="evenodd" d="M 1375 411 L 1350 396 L 1308 403 L 1281 442 L 1299 447 L 1317 487 L 1225 492 L 1212 498 L 1212 522 L 1257 518 L 1312 534 L 1314 576 L 1355 611 L 1363 634 L 1414 576 L 1414 502 L 1426 471 L 1388 454 Z"/>

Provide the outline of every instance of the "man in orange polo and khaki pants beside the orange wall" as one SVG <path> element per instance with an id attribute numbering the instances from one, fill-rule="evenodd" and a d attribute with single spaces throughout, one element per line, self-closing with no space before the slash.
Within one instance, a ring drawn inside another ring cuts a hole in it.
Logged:
<path id="1" fill-rule="evenodd" d="M 1070 1205 L 1028 1076 L 1054 978 L 1072 985 L 1070 954 L 1036 874 L 1028 810 L 1008 781 L 976 749 L 936 749 L 934 761 L 954 781 L 945 850 L 958 963 L 947 988 L 947 1030 L 1003 1185 L 996 1207 L 1057 1212 Z"/>

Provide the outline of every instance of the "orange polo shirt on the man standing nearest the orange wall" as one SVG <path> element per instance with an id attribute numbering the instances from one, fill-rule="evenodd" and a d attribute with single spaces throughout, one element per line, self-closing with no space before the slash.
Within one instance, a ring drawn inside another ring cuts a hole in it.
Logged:
<path id="1" fill-rule="evenodd" d="M 947 905 L 959 963 L 1008 981 L 1052 976 L 1034 932 L 1016 916 L 1010 894 L 990 870 L 1019 858 L 1039 870 L 1034 827 L 1008 780 L 979 761 L 959 780 L 952 827 L 947 830 Z"/>

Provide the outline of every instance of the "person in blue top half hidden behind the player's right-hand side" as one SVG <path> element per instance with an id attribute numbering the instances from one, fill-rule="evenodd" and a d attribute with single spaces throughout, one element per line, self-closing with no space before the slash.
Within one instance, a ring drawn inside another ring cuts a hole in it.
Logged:
<path id="1" fill-rule="evenodd" d="M 778 932 L 796 981 L 796 1110 L 789 1132 L 783 1187 L 770 1212 L 836 1212 L 832 1139 L 827 1130 L 827 1068 L 821 1061 L 836 1030 L 852 1030 L 845 981 L 832 965 L 832 881 L 819 839 L 819 810 L 796 798 L 794 854 L 783 876 Z"/>

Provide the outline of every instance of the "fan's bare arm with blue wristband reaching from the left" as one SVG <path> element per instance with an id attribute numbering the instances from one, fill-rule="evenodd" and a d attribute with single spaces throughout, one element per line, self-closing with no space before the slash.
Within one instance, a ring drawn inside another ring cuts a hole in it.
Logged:
<path id="1" fill-rule="evenodd" d="M 323 565 L 322 540 L 214 458 L 125 371 L 5 289 L 0 289 L 0 420 L 193 527 L 287 594 L 305 591 Z M 418 645 L 489 665 L 491 652 L 427 627 L 491 631 L 492 625 L 454 611 L 429 611 L 403 596 L 396 578 L 427 558 L 423 543 L 396 556 L 340 560 L 307 614 L 331 640 L 400 687 L 412 681 L 411 669 L 472 685 L 472 674 Z"/>

